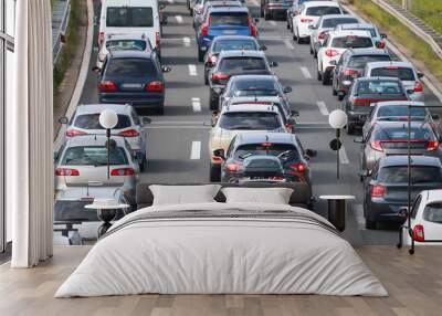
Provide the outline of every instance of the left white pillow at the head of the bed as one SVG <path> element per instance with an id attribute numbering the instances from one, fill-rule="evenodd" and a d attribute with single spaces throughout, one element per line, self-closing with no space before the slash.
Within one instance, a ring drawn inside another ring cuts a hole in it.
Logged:
<path id="1" fill-rule="evenodd" d="M 220 185 L 206 186 L 149 186 L 154 194 L 152 206 L 214 202 Z"/>

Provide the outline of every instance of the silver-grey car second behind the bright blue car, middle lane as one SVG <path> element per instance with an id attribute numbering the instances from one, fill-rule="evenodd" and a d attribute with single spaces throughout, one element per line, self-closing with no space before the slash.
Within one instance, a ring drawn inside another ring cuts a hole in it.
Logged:
<path id="1" fill-rule="evenodd" d="M 269 75 L 277 63 L 269 62 L 262 51 L 222 51 L 209 74 L 210 109 L 219 108 L 219 97 L 235 75 Z"/>

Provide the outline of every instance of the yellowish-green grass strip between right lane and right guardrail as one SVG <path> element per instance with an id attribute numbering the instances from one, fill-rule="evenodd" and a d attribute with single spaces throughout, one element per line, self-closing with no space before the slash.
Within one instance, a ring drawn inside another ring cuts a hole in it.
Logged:
<path id="1" fill-rule="evenodd" d="M 442 82 L 442 60 L 425 41 L 373 2 L 367 0 L 350 0 L 349 2 L 376 22 L 386 33 L 394 38 L 398 43 L 408 49 L 413 59 L 423 62 L 431 70 L 431 73 Z"/>

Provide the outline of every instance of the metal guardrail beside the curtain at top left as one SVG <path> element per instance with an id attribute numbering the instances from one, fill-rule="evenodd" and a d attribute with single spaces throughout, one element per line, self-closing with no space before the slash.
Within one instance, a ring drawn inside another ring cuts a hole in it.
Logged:
<path id="1" fill-rule="evenodd" d="M 56 9 L 62 10 L 55 11 Z M 54 64 L 59 61 L 63 48 L 62 36 L 66 34 L 70 15 L 71 0 L 56 1 L 54 4 L 54 11 L 52 12 L 52 56 Z"/>

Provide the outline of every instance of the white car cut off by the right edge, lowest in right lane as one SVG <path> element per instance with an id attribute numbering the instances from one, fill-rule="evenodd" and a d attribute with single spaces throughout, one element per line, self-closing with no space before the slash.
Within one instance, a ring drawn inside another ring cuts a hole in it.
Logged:
<path id="1" fill-rule="evenodd" d="M 442 190 L 425 190 L 415 198 L 411 207 L 411 231 L 415 244 L 442 244 Z M 407 228 L 402 236 L 406 244 L 411 244 Z"/>

